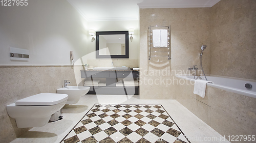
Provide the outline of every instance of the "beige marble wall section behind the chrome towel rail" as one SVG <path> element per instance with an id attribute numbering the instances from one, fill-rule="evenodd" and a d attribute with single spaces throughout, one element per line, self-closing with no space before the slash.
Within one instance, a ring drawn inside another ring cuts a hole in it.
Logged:
<path id="1" fill-rule="evenodd" d="M 155 16 L 152 16 L 155 14 Z M 204 44 L 203 65 L 206 74 L 210 74 L 210 8 L 169 8 L 140 9 L 140 71 L 170 69 L 166 79 L 175 78 L 175 71 L 187 69 L 193 65 L 200 68 L 200 47 Z M 171 56 L 167 58 L 152 58 L 148 60 L 147 34 L 150 25 L 170 25 Z M 160 79 L 159 75 L 140 74 L 140 79 Z M 154 89 L 154 90 L 153 90 Z M 141 99 L 175 99 L 176 84 L 140 85 Z M 178 96 L 178 95 L 177 95 Z"/>

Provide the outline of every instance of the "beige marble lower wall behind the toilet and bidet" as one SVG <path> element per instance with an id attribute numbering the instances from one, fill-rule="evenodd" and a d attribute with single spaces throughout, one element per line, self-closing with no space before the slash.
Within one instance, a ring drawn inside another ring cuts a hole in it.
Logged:
<path id="1" fill-rule="evenodd" d="M 56 93 L 65 79 L 70 79 L 70 85 L 80 85 L 80 69 L 82 66 L 0 67 L 0 142 L 10 142 L 30 129 L 17 128 L 6 105 L 43 92 Z"/>

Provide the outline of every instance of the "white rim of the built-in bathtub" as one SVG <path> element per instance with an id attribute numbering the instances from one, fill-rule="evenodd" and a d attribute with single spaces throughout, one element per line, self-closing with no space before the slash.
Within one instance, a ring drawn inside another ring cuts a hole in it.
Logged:
<path id="1" fill-rule="evenodd" d="M 186 76 L 193 76 L 193 75 L 176 75 L 176 77 L 179 77 L 179 78 L 183 78 L 183 79 L 190 80 L 190 81 L 195 81 L 195 79 L 187 78 Z M 214 77 L 214 76 L 211 76 L 211 77 Z M 216 77 L 220 77 L 220 76 L 216 76 Z M 207 76 L 206 76 L 206 78 L 207 78 Z M 222 78 L 226 78 L 226 77 L 222 76 Z M 241 80 L 241 78 L 239 80 Z M 245 81 L 247 81 L 247 80 L 245 80 Z M 215 83 L 213 83 L 213 84 L 212 83 L 208 83 L 207 85 L 210 86 L 210 87 L 221 89 L 221 90 L 225 90 L 225 91 L 229 91 L 229 92 L 233 92 L 233 93 L 249 96 L 249 97 L 252 97 L 252 98 L 256 98 L 256 93 L 255 92 L 241 91 L 241 90 L 238 90 L 236 88 L 230 88 L 230 87 L 227 87 L 227 86 L 224 86 L 224 85 L 215 84 Z"/>

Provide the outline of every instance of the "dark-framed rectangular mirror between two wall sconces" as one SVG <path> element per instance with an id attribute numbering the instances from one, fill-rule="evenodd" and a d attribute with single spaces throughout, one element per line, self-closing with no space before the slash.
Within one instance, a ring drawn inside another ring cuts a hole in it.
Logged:
<path id="1" fill-rule="evenodd" d="M 96 32 L 96 59 L 129 58 L 128 31 Z"/>

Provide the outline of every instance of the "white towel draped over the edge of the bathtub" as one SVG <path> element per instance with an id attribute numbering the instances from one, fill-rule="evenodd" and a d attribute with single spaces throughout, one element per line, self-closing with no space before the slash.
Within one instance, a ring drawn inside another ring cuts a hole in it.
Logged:
<path id="1" fill-rule="evenodd" d="M 202 98 L 204 98 L 206 84 L 209 82 L 211 82 L 211 81 L 200 80 L 200 79 L 195 80 L 194 94 L 197 94 L 197 95 L 201 96 Z"/>

